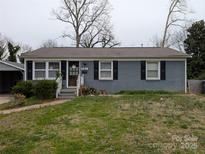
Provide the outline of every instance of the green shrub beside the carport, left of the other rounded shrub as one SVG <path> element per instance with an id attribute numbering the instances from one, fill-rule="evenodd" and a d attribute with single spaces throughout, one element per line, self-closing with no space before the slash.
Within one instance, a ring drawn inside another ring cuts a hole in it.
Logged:
<path id="1" fill-rule="evenodd" d="M 33 96 L 33 84 L 31 81 L 18 82 L 11 91 L 12 94 L 21 94 L 27 98 Z"/>

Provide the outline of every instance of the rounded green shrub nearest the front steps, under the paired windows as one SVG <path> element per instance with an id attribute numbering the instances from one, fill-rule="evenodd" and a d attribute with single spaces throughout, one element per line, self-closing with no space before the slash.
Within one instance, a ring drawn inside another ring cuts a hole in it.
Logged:
<path id="1" fill-rule="evenodd" d="M 57 83 L 54 80 L 38 81 L 35 85 L 35 96 L 40 99 L 55 98 Z"/>

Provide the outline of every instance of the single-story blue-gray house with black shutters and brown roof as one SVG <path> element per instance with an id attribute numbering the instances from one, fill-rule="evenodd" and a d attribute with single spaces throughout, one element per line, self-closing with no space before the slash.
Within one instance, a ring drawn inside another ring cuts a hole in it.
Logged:
<path id="1" fill-rule="evenodd" d="M 56 79 L 62 88 L 86 85 L 108 93 L 122 90 L 186 92 L 186 60 L 169 48 L 41 48 L 24 53 L 25 79 Z"/>

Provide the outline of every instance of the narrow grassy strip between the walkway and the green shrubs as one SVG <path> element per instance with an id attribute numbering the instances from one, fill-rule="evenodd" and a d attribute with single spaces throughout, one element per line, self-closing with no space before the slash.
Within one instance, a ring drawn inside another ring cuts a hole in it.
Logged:
<path id="1" fill-rule="evenodd" d="M 42 104 L 48 101 L 51 101 L 51 100 L 41 100 L 36 97 L 27 98 L 20 103 L 17 103 L 16 101 L 12 100 L 8 103 L 1 104 L 0 110 L 7 110 L 7 109 L 20 108 L 20 107 L 30 106 L 30 105 L 35 105 L 35 104 Z"/>

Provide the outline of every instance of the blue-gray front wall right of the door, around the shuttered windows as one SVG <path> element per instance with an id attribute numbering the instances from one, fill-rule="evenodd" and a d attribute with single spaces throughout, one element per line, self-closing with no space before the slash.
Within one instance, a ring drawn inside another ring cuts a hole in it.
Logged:
<path id="1" fill-rule="evenodd" d="M 164 90 L 185 91 L 185 62 L 167 61 L 165 81 L 141 80 L 140 62 L 119 62 L 118 80 L 94 80 L 93 62 L 86 63 L 89 71 L 85 75 L 85 84 L 98 90 L 116 93 L 122 90 Z"/>

